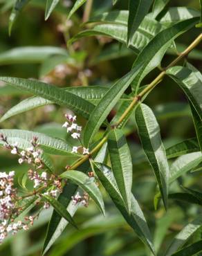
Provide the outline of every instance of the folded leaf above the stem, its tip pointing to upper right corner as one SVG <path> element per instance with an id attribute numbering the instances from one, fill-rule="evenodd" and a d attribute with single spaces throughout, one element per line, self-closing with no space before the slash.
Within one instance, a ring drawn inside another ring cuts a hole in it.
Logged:
<path id="1" fill-rule="evenodd" d="M 134 62 L 134 66 L 138 65 L 140 62 L 144 62 L 138 73 L 138 77 L 136 77 L 136 83 L 134 83 L 136 92 L 143 78 L 160 64 L 165 51 L 171 46 L 173 40 L 192 28 L 198 20 L 199 18 L 192 18 L 180 21 L 158 33 L 158 35 L 145 46 Z"/>

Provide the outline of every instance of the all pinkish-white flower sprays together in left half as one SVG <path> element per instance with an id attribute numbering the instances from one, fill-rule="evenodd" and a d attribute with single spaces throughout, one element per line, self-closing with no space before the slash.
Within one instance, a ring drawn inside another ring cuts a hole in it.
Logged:
<path id="1" fill-rule="evenodd" d="M 66 114 L 66 122 L 63 127 L 66 127 L 67 132 L 71 133 L 73 138 L 80 140 L 80 132 L 82 127 L 75 123 L 76 116 Z M 28 170 L 26 176 L 28 180 L 33 182 L 33 190 L 26 194 L 21 194 L 15 188 L 15 171 L 8 174 L 0 172 L 0 244 L 11 233 L 15 235 L 19 230 L 28 230 L 33 226 L 35 219 L 39 217 L 39 213 L 43 209 L 50 208 L 50 203 L 45 201 L 42 195 L 51 196 L 57 199 L 57 196 L 62 193 L 62 183 L 55 174 L 46 172 L 46 166 L 42 161 L 42 149 L 39 148 L 37 137 L 33 137 L 30 141 L 31 145 L 27 149 L 21 150 L 18 143 L 11 145 L 8 139 L 3 134 L 0 134 L 0 140 L 3 141 L 4 147 L 10 149 L 10 153 L 19 156 L 18 163 L 32 164 L 33 169 Z M 81 143 L 81 140 L 80 140 Z M 82 143 L 81 143 L 82 144 Z M 73 153 L 77 153 L 78 149 L 82 149 L 82 154 L 89 154 L 89 149 L 82 145 L 79 147 L 74 146 Z M 34 199 L 35 205 L 42 205 L 37 214 L 28 217 L 20 218 L 20 214 L 27 208 L 28 199 Z M 72 196 L 73 205 L 89 205 L 89 195 L 84 192 L 81 195 L 79 192 Z"/>

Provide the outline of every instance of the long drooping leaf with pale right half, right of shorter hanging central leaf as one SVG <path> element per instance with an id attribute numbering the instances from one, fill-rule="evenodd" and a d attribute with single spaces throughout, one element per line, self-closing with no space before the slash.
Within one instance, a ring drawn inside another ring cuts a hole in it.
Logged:
<path id="1" fill-rule="evenodd" d="M 140 104 L 136 109 L 136 123 L 143 149 L 152 165 L 163 203 L 167 208 L 169 166 L 160 138 L 160 128 L 152 109 Z"/>

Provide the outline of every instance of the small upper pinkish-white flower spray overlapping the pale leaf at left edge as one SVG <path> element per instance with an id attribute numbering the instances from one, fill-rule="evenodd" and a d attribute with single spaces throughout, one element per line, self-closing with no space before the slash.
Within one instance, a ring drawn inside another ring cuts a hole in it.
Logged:
<path id="1" fill-rule="evenodd" d="M 11 154 L 19 156 L 18 162 L 20 165 L 24 162 L 27 162 L 29 164 L 37 164 L 39 168 L 43 167 L 43 163 L 40 158 L 40 156 L 42 155 L 42 149 L 38 149 L 39 144 L 37 143 L 37 137 L 34 137 L 33 140 L 30 141 L 32 145 L 31 147 L 28 147 L 26 150 L 21 151 L 17 146 L 17 143 L 15 143 L 15 145 L 10 145 L 6 136 L 3 136 L 3 134 L 0 134 L 0 140 L 3 140 L 3 142 L 5 143 L 5 147 L 11 150 Z"/>

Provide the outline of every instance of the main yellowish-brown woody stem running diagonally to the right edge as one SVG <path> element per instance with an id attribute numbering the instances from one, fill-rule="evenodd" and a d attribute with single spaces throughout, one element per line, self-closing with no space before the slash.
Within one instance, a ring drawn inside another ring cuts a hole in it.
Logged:
<path id="1" fill-rule="evenodd" d="M 89 1 L 91 1 L 91 0 L 89 0 Z M 143 91 L 141 91 L 138 95 L 136 95 L 134 97 L 134 100 L 132 100 L 131 104 L 129 104 L 129 107 L 125 110 L 125 112 L 122 114 L 122 116 L 118 120 L 116 127 L 118 125 L 120 125 L 120 123 L 127 117 L 128 113 L 131 111 L 131 109 L 133 109 L 133 107 L 136 104 L 138 104 L 138 102 L 141 100 L 141 98 L 143 98 L 143 96 L 145 96 L 149 91 L 152 91 L 152 89 L 154 89 L 156 84 L 158 84 L 161 80 L 163 80 L 163 77 L 166 75 L 166 70 L 168 68 L 170 68 L 171 66 L 174 66 L 178 61 L 180 61 L 183 57 L 185 57 L 187 54 L 189 54 L 190 51 L 192 51 L 201 41 L 202 41 L 202 33 L 198 37 L 196 37 L 194 42 L 192 42 L 192 44 L 190 44 L 190 46 L 188 46 L 185 49 L 185 51 L 180 53 L 178 55 L 178 57 L 176 57 L 176 59 L 173 62 L 171 62 L 165 68 L 165 70 L 162 71 Z M 77 167 L 82 165 L 82 163 L 84 163 L 87 159 L 89 159 L 89 156 L 91 156 L 93 153 L 97 152 L 98 149 L 100 149 L 100 147 L 102 147 L 102 145 L 107 141 L 107 136 L 108 136 L 108 134 L 102 138 L 100 143 L 98 143 L 98 145 L 92 149 L 92 151 L 89 155 L 82 156 L 80 159 L 78 159 L 78 161 L 75 164 L 73 164 L 71 167 L 69 167 L 68 170 L 75 170 Z"/>

